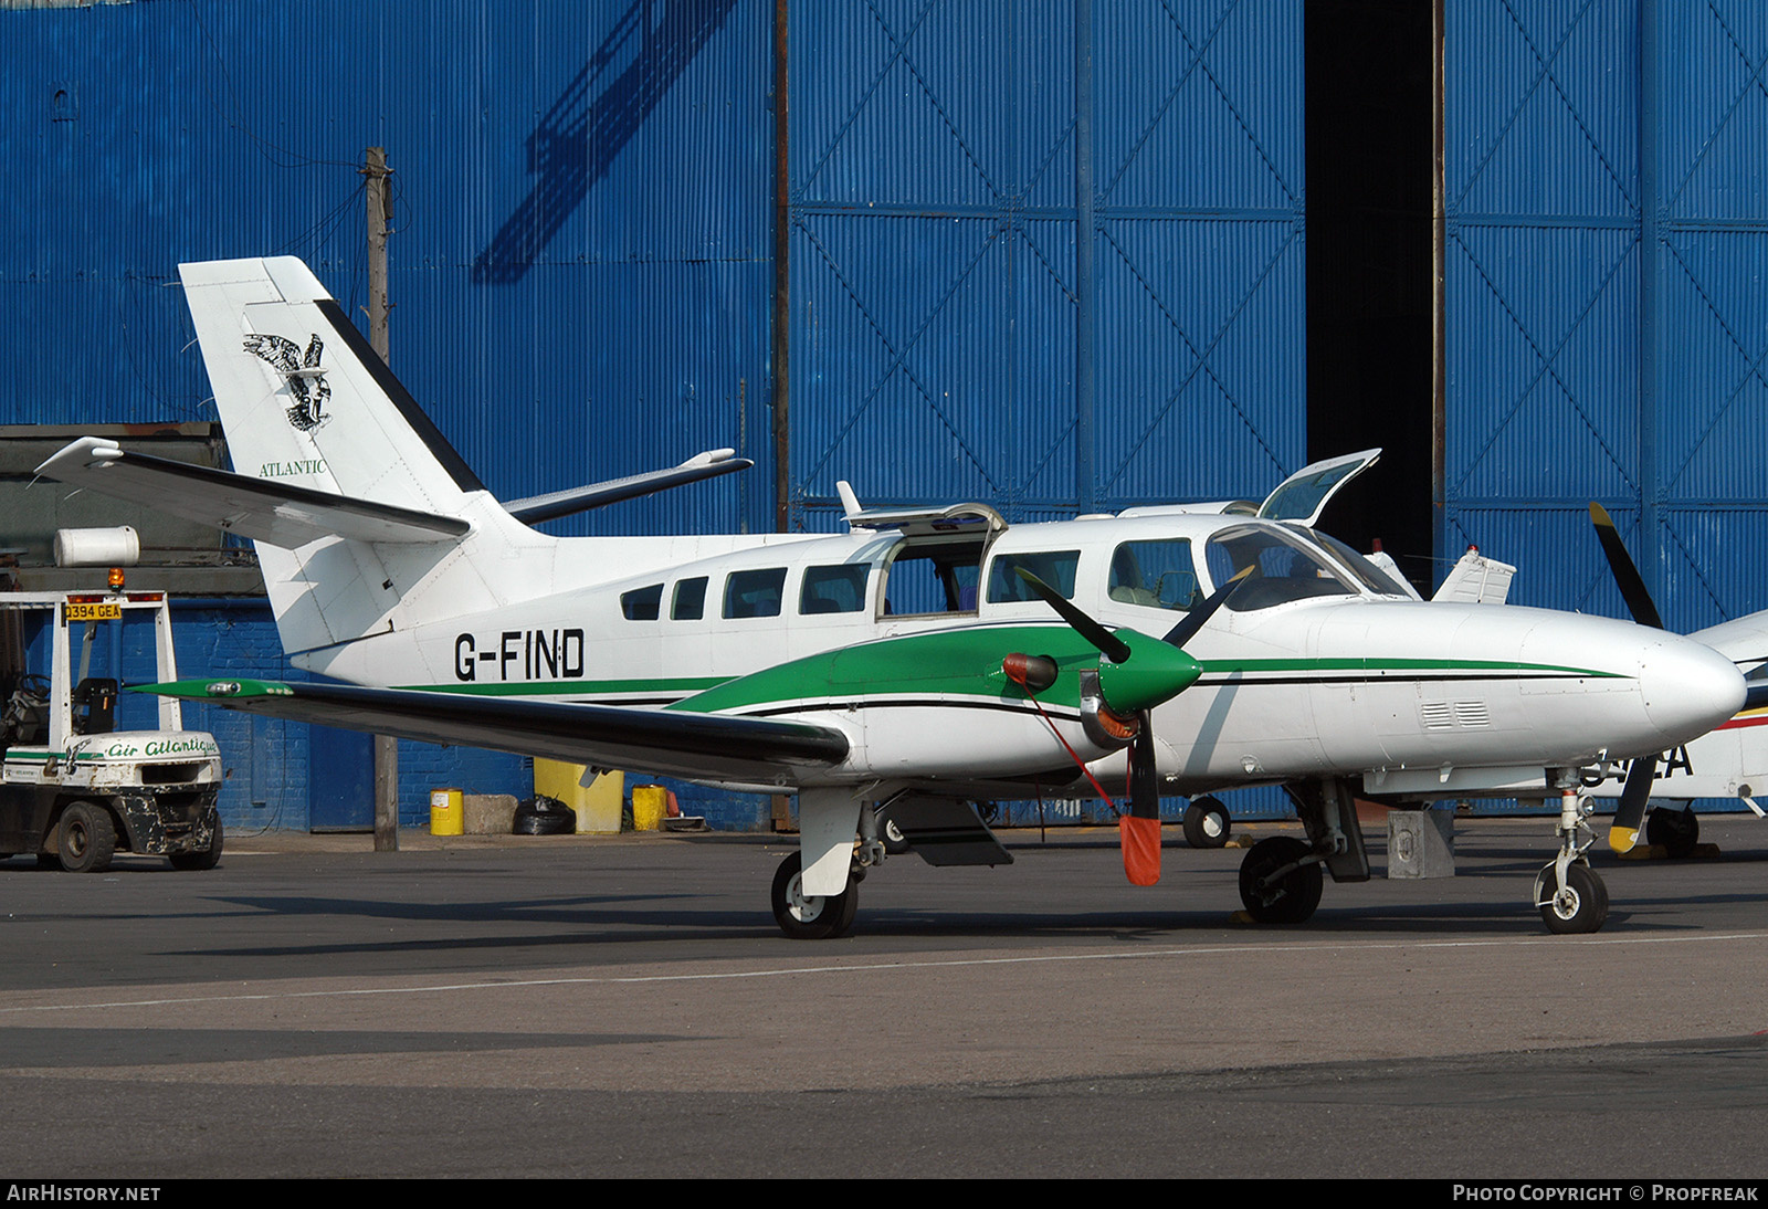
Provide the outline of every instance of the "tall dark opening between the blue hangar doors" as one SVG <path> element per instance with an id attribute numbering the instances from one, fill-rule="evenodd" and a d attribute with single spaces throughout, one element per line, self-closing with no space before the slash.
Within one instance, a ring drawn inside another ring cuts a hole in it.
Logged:
<path id="1" fill-rule="evenodd" d="M 1434 4 L 1308 0 L 1308 460 L 1381 445 L 1321 521 L 1429 596 Z M 1453 551 L 1448 551 L 1453 553 Z"/>

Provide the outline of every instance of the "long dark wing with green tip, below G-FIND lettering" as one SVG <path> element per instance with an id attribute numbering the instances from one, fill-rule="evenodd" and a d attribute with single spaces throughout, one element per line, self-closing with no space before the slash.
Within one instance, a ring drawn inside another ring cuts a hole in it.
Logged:
<path id="1" fill-rule="evenodd" d="M 209 705 L 368 730 L 423 742 L 495 748 L 596 767 L 746 785 L 792 785 L 847 758 L 847 735 L 769 718 L 571 702 L 523 702 L 354 684 L 173 681 L 134 688 Z"/>

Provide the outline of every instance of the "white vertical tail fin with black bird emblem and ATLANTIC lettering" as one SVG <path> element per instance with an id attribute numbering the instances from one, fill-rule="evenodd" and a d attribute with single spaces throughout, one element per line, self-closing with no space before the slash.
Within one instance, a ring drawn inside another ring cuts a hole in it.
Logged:
<path id="1" fill-rule="evenodd" d="M 256 539 L 283 647 L 338 647 L 495 608 L 550 543 L 509 516 L 293 256 L 179 265 L 233 475 L 186 484 Z M 126 458 L 117 472 L 164 467 Z M 164 475 L 161 475 L 164 477 Z M 248 490 L 246 483 L 256 483 Z M 525 566 L 525 564 L 523 564 Z M 322 652 L 308 656 L 302 652 Z"/>

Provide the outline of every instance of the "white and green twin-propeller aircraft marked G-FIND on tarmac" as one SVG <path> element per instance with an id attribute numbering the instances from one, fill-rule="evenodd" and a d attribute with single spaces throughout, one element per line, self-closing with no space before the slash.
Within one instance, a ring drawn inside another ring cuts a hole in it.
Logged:
<path id="1" fill-rule="evenodd" d="M 1307 841 L 1262 840 L 1239 871 L 1273 923 L 1314 912 L 1322 868 L 1368 877 L 1353 794 L 1554 792 L 1559 854 L 1535 901 L 1554 931 L 1593 931 L 1607 891 L 1581 771 L 1745 705 L 1738 666 L 1701 642 L 1425 603 L 1315 532 L 1377 451 L 1308 467 L 1262 507 L 1010 527 L 981 504 L 866 511 L 842 484 L 838 536 L 552 537 L 525 521 L 746 463 L 721 451 L 500 504 L 304 263 L 180 274 L 235 472 L 88 437 L 41 474 L 251 537 L 290 659 L 347 684 L 154 691 L 794 792 L 799 852 L 773 884 L 792 937 L 852 924 L 895 833 L 934 864 L 1008 863 L 974 801 L 1087 779 L 1128 787 L 1137 882 L 1158 877 L 1162 792 L 1287 787 Z"/>

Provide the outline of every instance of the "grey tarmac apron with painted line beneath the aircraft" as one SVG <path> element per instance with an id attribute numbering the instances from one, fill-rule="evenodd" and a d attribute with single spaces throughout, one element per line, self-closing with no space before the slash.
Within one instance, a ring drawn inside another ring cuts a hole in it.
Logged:
<path id="1" fill-rule="evenodd" d="M 1239 831 L 1275 834 L 1278 825 Z M 1757 1179 L 1768 824 L 1597 868 L 1549 820 L 1459 877 L 1236 917 L 1239 852 L 1109 831 L 889 861 L 792 942 L 769 836 L 232 836 L 221 868 L 0 863 L 0 1170 L 189 1175 Z"/>

